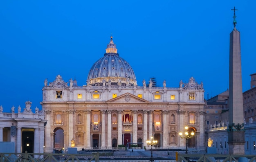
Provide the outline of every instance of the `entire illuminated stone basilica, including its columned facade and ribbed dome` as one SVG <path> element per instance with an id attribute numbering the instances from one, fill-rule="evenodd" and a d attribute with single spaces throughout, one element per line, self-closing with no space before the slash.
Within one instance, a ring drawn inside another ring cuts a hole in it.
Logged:
<path id="1" fill-rule="evenodd" d="M 193 131 L 189 147 L 204 150 L 204 89 L 193 77 L 177 88 L 155 87 L 144 80 L 138 86 L 132 67 L 119 57 L 112 37 L 106 53 L 89 71 L 86 85 L 61 75 L 43 87 L 45 152 L 81 149 L 112 149 L 137 143 L 148 147 L 151 136 L 158 148 L 185 148 L 179 132 Z"/>

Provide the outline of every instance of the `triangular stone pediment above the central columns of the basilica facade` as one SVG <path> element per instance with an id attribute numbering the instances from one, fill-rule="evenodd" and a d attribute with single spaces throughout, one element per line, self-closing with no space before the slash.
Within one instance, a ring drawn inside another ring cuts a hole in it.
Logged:
<path id="1" fill-rule="evenodd" d="M 106 101 L 107 103 L 148 103 L 147 100 L 141 99 L 138 96 L 135 96 L 130 93 L 122 94 L 121 96 L 117 96 L 114 99 L 110 99 Z"/>

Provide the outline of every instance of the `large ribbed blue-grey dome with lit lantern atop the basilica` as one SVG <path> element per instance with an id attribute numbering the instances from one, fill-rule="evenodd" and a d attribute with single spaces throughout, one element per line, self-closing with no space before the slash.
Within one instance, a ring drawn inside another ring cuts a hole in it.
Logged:
<path id="1" fill-rule="evenodd" d="M 119 57 L 112 38 L 111 36 L 104 56 L 93 64 L 88 74 L 87 85 L 131 86 L 137 84 L 132 67 L 127 61 Z"/>

